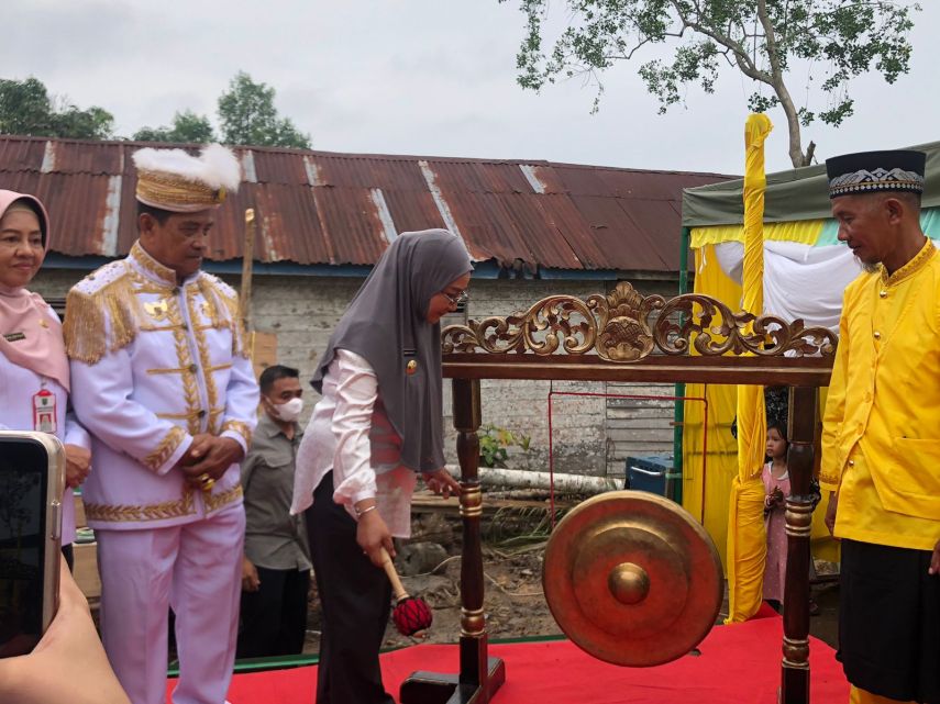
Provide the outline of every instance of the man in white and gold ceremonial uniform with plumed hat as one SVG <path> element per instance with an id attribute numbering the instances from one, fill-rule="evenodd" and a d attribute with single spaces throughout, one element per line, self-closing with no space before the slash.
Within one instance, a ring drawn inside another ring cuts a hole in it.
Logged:
<path id="1" fill-rule="evenodd" d="M 73 403 L 92 434 L 84 496 L 98 539 L 101 633 L 134 704 L 222 704 L 232 677 L 245 513 L 239 483 L 258 389 L 235 292 L 200 270 L 241 169 L 229 149 L 141 149 L 140 238 L 68 294 Z"/>

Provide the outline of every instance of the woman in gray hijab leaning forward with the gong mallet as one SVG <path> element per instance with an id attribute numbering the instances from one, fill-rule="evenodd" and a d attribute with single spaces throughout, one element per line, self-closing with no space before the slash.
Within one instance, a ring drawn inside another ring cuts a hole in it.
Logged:
<path id="1" fill-rule="evenodd" d="M 313 377 L 322 394 L 297 455 L 323 608 L 318 704 L 391 704 L 378 652 L 391 586 L 381 549 L 411 532 L 418 473 L 444 496 L 441 317 L 466 297 L 469 255 L 445 230 L 399 235 L 360 289 Z"/>

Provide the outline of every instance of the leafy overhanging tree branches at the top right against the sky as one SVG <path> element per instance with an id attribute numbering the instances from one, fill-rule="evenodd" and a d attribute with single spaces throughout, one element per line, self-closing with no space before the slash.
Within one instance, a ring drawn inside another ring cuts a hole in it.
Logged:
<path id="1" fill-rule="evenodd" d="M 852 115 L 852 78 L 876 70 L 893 83 L 908 71 L 907 35 L 911 13 L 920 9 L 876 0 L 566 0 L 554 4 L 564 5 L 568 25 L 546 52 L 549 0 L 520 3 L 527 19 L 517 56 L 523 88 L 586 76 L 597 81 L 597 109 L 604 88 L 599 72 L 633 59 L 646 45 L 668 45 L 672 60 L 639 67 L 661 113 L 682 102 L 690 83 L 714 92 L 719 70 L 730 67 L 757 83 L 751 110 L 783 109 L 795 167 L 810 164 L 815 148 L 810 142 L 804 150 L 800 127 L 817 120 L 840 125 Z M 810 80 L 821 79 L 815 85 L 829 100 L 825 110 L 796 104 L 786 81 L 797 66 L 808 67 Z"/>

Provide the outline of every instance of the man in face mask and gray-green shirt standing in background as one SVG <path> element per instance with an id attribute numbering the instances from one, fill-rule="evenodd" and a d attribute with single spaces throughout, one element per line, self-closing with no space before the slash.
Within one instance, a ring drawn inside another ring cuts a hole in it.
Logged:
<path id="1" fill-rule="evenodd" d="M 301 652 L 310 586 L 303 516 L 290 515 L 303 392 L 297 369 L 283 365 L 265 369 L 258 381 L 264 413 L 242 462 L 247 524 L 239 658 Z"/>

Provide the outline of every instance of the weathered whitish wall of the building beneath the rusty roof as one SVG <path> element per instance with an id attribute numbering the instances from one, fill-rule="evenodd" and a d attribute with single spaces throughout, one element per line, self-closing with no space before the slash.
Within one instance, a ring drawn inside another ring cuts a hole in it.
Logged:
<path id="1" fill-rule="evenodd" d="M 46 269 L 38 273 L 33 290 L 46 298 L 65 298 L 68 289 L 85 275 L 79 270 Z M 239 277 L 223 277 L 237 286 Z M 300 369 L 309 379 L 362 279 L 346 277 L 257 276 L 252 289 L 252 320 L 258 331 L 277 336 L 278 360 Z M 644 294 L 672 295 L 674 282 L 633 281 Z M 506 316 L 524 310 L 551 293 L 585 298 L 606 292 L 612 281 L 567 280 L 474 280 L 467 310 L 449 316 L 443 324 L 468 317 Z M 306 385 L 306 384 L 305 384 Z M 662 393 L 672 394 L 671 384 L 608 385 L 600 382 L 495 381 L 485 380 L 483 422 L 531 438 L 530 451 L 510 448 L 510 466 L 545 470 L 549 461 L 548 398 L 556 392 Z M 309 417 L 316 395 L 307 392 L 302 422 Z M 444 383 L 445 447 L 455 461 L 451 429 L 450 383 Z M 621 401 L 604 398 L 556 395 L 553 401 L 555 471 L 616 473 L 623 471 L 630 454 L 672 451 L 671 401 Z"/>

